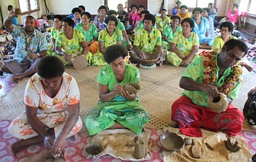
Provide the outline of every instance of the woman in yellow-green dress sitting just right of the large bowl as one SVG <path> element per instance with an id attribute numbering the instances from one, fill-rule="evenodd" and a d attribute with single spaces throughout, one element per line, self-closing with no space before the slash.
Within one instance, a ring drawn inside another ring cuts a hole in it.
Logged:
<path id="1" fill-rule="evenodd" d="M 199 40 L 197 34 L 192 32 L 195 24 L 192 18 L 181 21 L 182 31 L 177 31 L 170 44 L 170 53 L 167 53 L 167 61 L 173 66 L 188 66 L 193 59 L 199 57 L 197 53 Z"/>

